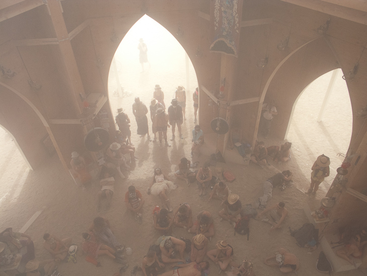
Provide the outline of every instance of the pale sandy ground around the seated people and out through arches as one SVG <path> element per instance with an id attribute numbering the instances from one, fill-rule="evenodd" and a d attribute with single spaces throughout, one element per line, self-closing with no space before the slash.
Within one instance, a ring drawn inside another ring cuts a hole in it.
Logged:
<path id="1" fill-rule="evenodd" d="M 137 60 L 137 55 L 134 56 L 134 59 Z M 118 59 L 118 61 L 124 64 L 124 60 Z M 157 69 L 157 63 L 153 59 L 150 62 L 150 69 L 142 74 L 140 73 L 140 64 L 137 62 L 129 66 L 126 71 L 124 71 L 125 67 L 121 66 L 119 74 L 125 76 L 122 80 L 123 86 L 126 90 L 131 90 L 133 95 L 125 98 L 121 96 L 113 97 L 111 94 L 116 88 L 116 85 L 113 81 L 110 81 L 110 101 L 113 111 L 116 111 L 118 107 L 122 106 L 130 115 L 131 105 L 135 95 L 139 95 L 148 105 L 152 97 L 153 87 L 157 83 L 166 92 L 165 103 L 167 106 L 169 105 L 174 87 L 185 81 L 185 67 L 177 66 L 176 71 L 172 70 L 170 74 L 164 75 L 164 79 L 157 81 L 158 76 L 162 76 L 163 73 Z M 325 78 L 327 79 L 327 77 Z M 128 175 L 127 179 L 117 179 L 112 206 L 108 212 L 98 213 L 96 210 L 96 195 L 100 189 L 98 181 L 94 182 L 86 192 L 83 192 L 81 188 L 76 187 L 71 177 L 63 170 L 57 156 L 48 160 L 39 170 L 30 171 L 23 162 L 22 156 L 15 148 L 9 135 L 1 132 L 0 182 L 2 183 L 2 188 L 0 190 L 0 218 L 2 220 L 2 226 L 12 226 L 15 230 L 19 230 L 35 212 L 43 210 L 45 206 L 41 215 L 26 232 L 33 237 L 37 258 L 45 259 L 49 257 L 48 253 L 43 249 L 42 236 L 45 232 L 52 233 L 60 238 L 72 237 L 73 241 L 80 245 L 82 241 L 81 233 L 87 230 L 95 217 L 103 216 L 110 220 L 112 229 L 118 240 L 133 250 L 133 254 L 127 257 L 130 267 L 125 274 L 128 275 L 130 269 L 135 264 L 140 264 L 149 245 L 153 244 L 160 236 L 153 228 L 151 215 L 154 206 L 159 205 L 160 201 L 158 197 L 147 195 L 146 193 L 153 178 L 153 169 L 161 167 L 163 171 L 173 176 L 173 172 L 177 169 L 179 159 L 184 156 L 190 157 L 191 130 L 194 127 L 191 95 L 193 89 L 195 89 L 195 82 L 196 79 L 191 81 L 194 85 L 191 86 L 191 90 L 188 92 L 187 120 L 182 125 L 182 131 L 185 136 L 183 143 L 176 138 L 174 142 L 170 142 L 172 147 L 166 148 L 148 142 L 146 138 L 140 139 L 136 135 L 136 124 L 131 114 L 132 142 L 135 144 L 136 156 L 139 158 L 139 161 L 130 172 L 126 172 Z M 322 98 L 320 93 L 322 93 L 321 90 L 323 88 L 319 86 L 317 86 L 315 91 L 316 95 L 319 96 L 310 96 L 311 99 Z M 344 100 L 340 99 L 338 95 L 333 95 L 328 108 L 329 106 L 336 106 L 336 103 L 340 103 L 341 101 Z M 239 194 L 242 204 L 252 203 L 260 196 L 262 191 L 261 183 L 273 175 L 277 169 L 291 168 L 295 172 L 293 186 L 287 187 L 283 192 L 279 189 L 274 189 L 273 197 L 268 201 L 268 204 L 273 204 L 282 200 L 286 203 L 287 209 L 290 210 L 289 217 L 279 231 L 269 232 L 270 226 L 268 224 L 252 220 L 250 222 L 250 238 L 247 241 L 244 236 L 234 235 L 234 230 L 228 222 L 219 221 L 218 212 L 221 210 L 219 201 L 213 200 L 208 202 L 208 195 L 204 199 L 200 199 L 196 184 L 188 187 L 185 183 L 176 181 L 178 188 L 169 194 L 174 208 L 179 203 L 189 202 L 195 217 L 201 210 L 209 210 L 214 217 L 216 230 L 215 237 L 210 242 L 209 249 L 214 248 L 218 240 L 227 240 L 234 248 L 234 259 L 237 262 L 242 261 L 243 258 L 248 258 L 254 262 L 256 275 L 281 275 L 278 269 L 263 264 L 263 260 L 276 252 L 280 247 L 288 248 L 299 257 L 301 262 L 301 269 L 298 271 L 299 275 L 323 275 L 323 273 L 317 272 L 315 268 L 315 263 L 321 248 L 308 254 L 307 249 L 299 248 L 295 244 L 294 238 L 289 235 L 288 227 L 299 228 L 307 222 L 303 212 L 303 205 L 307 202 L 317 205 L 316 200 L 325 194 L 335 175 L 332 174 L 325 181 L 326 183 L 321 185 L 322 190 L 318 193 L 316 199 L 309 198 L 302 190 L 307 189 L 309 174 L 311 172 L 310 167 L 314 160 L 319 154 L 328 154 L 332 158 L 331 171 L 334 171 L 342 160 L 338 158 L 334 159 L 335 155 L 337 152 L 346 152 L 348 141 L 350 140 L 350 131 L 345 136 L 339 135 L 339 130 L 346 129 L 346 127 L 335 127 L 337 120 L 333 116 L 325 116 L 322 124 L 316 123 L 315 120 L 306 121 L 304 119 L 305 114 L 307 114 L 307 117 L 313 117 L 315 119 L 318 113 L 316 104 L 313 105 L 314 109 L 311 109 L 309 102 L 310 99 L 306 99 L 303 106 L 301 106 L 301 100 L 299 102 L 300 109 L 303 112 L 299 115 L 303 118 L 302 120 L 296 117 L 296 114 L 294 116 L 295 125 L 292 126 L 288 136 L 288 140 L 294 143 L 292 160 L 290 162 L 280 165 L 273 164 L 274 167 L 270 166 L 265 169 L 252 165 L 217 164 L 217 166 L 230 169 L 236 176 L 237 179 L 232 183 L 228 183 L 228 186 L 233 192 Z M 312 102 L 314 103 L 315 100 L 312 100 Z M 335 115 L 339 112 L 329 110 L 327 113 Z M 348 112 L 346 111 L 346 113 Z M 151 125 L 150 121 L 149 125 Z M 322 131 L 320 131 L 320 128 Z M 303 129 L 304 132 L 302 132 Z M 168 130 L 168 137 L 171 137 L 170 130 Z M 333 137 L 334 141 L 332 141 L 331 137 Z M 341 142 L 336 141 L 336 137 Z M 327 143 L 320 143 L 318 139 L 323 142 L 332 141 L 332 143 L 326 145 Z M 272 141 L 271 139 L 266 141 L 267 145 L 271 143 L 281 143 L 281 141 Z M 198 160 L 203 164 L 207 158 L 206 156 L 200 156 Z M 146 199 L 143 208 L 143 224 L 141 225 L 137 224 L 126 212 L 124 195 L 129 185 L 135 185 Z M 184 229 L 174 228 L 173 236 L 191 238 L 192 234 Z M 93 264 L 85 261 L 85 255 L 80 250 L 78 251 L 77 258 L 78 260 L 75 264 L 72 262 L 60 264 L 60 272 L 65 276 L 110 276 L 120 267 L 119 264 L 114 263 L 107 257 L 100 257 L 99 260 L 102 263 L 102 267 L 95 267 Z M 142 275 L 142 272 L 138 273 Z M 354 270 L 339 273 L 339 275 L 352 276 L 356 275 L 356 273 Z M 218 269 L 212 262 L 210 274 L 218 275 Z"/>

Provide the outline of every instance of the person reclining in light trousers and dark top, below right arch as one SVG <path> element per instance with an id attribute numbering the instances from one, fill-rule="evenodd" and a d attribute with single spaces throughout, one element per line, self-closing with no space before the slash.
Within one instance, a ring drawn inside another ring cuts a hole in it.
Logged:
<path id="1" fill-rule="evenodd" d="M 288 184 L 289 181 L 291 181 L 293 178 L 293 173 L 290 170 L 283 171 L 281 173 L 277 173 L 270 178 L 268 178 L 263 184 L 262 189 L 264 194 L 260 196 L 256 200 L 257 208 L 259 209 L 265 209 L 266 208 L 266 202 L 269 200 L 272 196 L 272 189 L 274 187 L 283 186 L 285 184 Z"/>

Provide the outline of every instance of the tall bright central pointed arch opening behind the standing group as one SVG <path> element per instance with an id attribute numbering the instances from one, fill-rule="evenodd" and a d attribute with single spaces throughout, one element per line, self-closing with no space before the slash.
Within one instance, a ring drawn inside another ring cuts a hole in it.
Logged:
<path id="1" fill-rule="evenodd" d="M 148 62 L 143 64 L 140 63 L 138 49 L 140 39 L 147 47 Z M 144 15 L 126 33 L 117 48 L 108 81 L 112 113 L 116 116 L 117 109 L 123 108 L 128 114 L 134 144 L 140 141 L 139 136 L 136 136 L 137 126 L 132 113 L 134 98 L 139 97 L 149 110 L 156 85 L 159 85 L 164 93 L 166 111 L 174 98 L 177 86 L 185 88 L 187 120 L 182 124 L 182 131 L 186 131 L 184 136 L 191 140 L 190 134 L 194 128 L 193 93 L 198 87 L 193 63 L 185 49 L 167 29 Z M 147 117 L 151 134 L 149 112 Z M 170 130 L 167 131 L 167 136 L 171 137 Z"/>

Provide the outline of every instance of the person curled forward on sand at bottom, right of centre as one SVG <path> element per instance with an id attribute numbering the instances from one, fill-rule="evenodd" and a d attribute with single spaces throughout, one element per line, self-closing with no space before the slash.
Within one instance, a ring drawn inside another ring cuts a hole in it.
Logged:
<path id="1" fill-rule="evenodd" d="M 275 256 L 266 258 L 264 263 L 269 266 L 279 267 L 283 273 L 295 272 L 300 268 L 300 261 L 297 256 L 284 248 L 279 249 Z"/>

